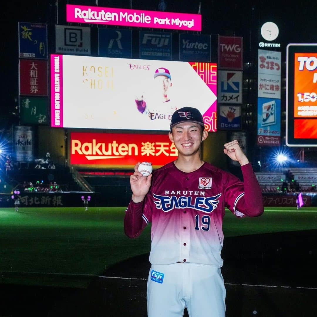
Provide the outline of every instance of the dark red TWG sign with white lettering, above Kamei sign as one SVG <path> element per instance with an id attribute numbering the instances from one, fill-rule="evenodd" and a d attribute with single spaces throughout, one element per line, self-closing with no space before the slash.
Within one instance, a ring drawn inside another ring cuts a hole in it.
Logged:
<path id="1" fill-rule="evenodd" d="M 243 37 L 218 36 L 218 68 L 243 69 Z"/>

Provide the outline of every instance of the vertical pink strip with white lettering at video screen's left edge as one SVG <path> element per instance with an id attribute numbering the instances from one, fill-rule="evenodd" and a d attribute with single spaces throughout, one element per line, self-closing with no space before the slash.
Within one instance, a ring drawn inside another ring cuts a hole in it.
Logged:
<path id="1" fill-rule="evenodd" d="M 63 127 L 63 55 L 51 55 L 51 126 Z"/>

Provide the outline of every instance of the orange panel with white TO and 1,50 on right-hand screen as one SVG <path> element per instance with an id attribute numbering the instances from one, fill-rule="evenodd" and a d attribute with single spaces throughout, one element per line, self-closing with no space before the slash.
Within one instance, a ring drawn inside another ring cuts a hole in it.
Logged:
<path id="1" fill-rule="evenodd" d="M 294 118 L 317 118 L 317 53 L 295 53 Z"/>

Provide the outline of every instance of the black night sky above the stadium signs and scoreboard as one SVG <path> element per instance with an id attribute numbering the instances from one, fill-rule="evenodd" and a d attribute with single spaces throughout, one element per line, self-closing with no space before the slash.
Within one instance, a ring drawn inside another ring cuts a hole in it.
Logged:
<path id="1" fill-rule="evenodd" d="M 161 0 L 145 1 L 132 0 L 133 9 L 157 10 Z M 185 2 L 179 0 L 164 0 L 166 11 L 198 13 L 199 1 Z M 95 5 L 90 1 L 67 1 L 70 4 Z M 2 41 L 1 61 L 4 69 L 3 90 L 1 105 L 4 120 L 16 106 L 15 98 L 18 95 L 18 33 L 17 23 L 37 22 L 48 23 L 49 31 L 54 31 L 56 24 L 56 1 L 17 1 L 10 0 L 3 4 L 1 19 Z M 285 56 L 288 43 L 313 43 L 317 42 L 314 2 L 300 1 L 295 5 L 286 5 L 284 1 L 202 1 L 201 13 L 203 21 L 202 34 L 220 34 L 243 36 L 244 56 L 256 55 L 258 46 L 250 45 L 249 39 L 256 39 L 259 27 L 267 21 L 275 22 L 280 28 L 279 42 L 281 42 L 282 58 Z M 60 0 L 59 24 L 65 24 L 66 1 Z M 103 7 L 129 8 L 129 0 L 99 0 Z M 53 33 L 54 34 L 54 33 Z M 4 40 L 3 40 L 4 39 Z M 52 40 L 52 39 L 51 39 Z M 50 52 L 53 53 L 53 52 Z M 284 58 L 285 59 L 285 58 Z M 246 59 L 244 58 L 244 61 Z"/>

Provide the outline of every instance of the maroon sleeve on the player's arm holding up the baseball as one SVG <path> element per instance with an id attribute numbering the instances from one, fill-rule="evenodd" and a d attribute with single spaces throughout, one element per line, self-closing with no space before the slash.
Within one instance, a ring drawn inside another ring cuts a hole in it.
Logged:
<path id="1" fill-rule="evenodd" d="M 148 192 L 144 200 L 139 203 L 135 203 L 131 199 L 123 221 L 124 232 L 129 238 L 138 237 L 147 224 L 152 221 L 151 210 L 150 192 Z"/>

